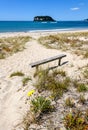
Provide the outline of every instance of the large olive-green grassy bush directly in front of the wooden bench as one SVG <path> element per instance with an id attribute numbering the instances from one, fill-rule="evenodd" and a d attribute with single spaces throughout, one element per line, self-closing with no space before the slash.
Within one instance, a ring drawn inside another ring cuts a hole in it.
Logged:
<path id="1" fill-rule="evenodd" d="M 39 70 L 37 71 L 35 87 L 39 92 L 49 90 L 54 99 L 60 98 L 68 90 L 70 79 L 61 71 Z M 64 76 L 64 77 L 63 77 Z"/>

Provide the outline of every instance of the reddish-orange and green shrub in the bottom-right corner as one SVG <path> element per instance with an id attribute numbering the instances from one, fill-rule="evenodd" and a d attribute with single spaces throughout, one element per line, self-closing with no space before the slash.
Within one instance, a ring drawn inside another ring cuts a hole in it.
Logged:
<path id="1" fill-rule="evenodd" d="M 67 130 L 85 130 L 87 123 L 86 114 L 80 110 L 72 110 L 64 117 L 64 126 Z"/>

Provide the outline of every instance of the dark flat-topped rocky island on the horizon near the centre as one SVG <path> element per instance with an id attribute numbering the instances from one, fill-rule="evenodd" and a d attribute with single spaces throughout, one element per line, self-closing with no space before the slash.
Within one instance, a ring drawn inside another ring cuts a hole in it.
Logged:
<path id="1" fill-rule="evenodd" d="M 36 22 L 55 22 L 55 20 L 50 16 L 35 16 L 34 21 L 36 21 Z"/>

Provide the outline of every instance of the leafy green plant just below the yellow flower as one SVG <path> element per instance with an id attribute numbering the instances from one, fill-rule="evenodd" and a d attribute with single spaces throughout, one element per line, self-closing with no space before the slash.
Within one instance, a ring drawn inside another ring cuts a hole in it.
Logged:
<path id="1" fill-rule="evenodd" d="M 43 96 L 35 97 L 31 101 L 30 110 L 35 114 L 36 118 L 39 118 L 41 114 L 52 111 L 51 101 Z"/>

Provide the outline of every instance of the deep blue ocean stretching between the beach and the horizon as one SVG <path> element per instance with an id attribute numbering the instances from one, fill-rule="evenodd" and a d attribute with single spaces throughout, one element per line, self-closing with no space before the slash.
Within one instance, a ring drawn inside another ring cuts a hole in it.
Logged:
<path id="1" fill-rule="evenodd" d="M 87 21 L 58 21 L 58 22 L 33 22 L 33 21 L 0 21 L 0 33 L 5 32 L 30 32 L 50 30 L 82 30 L 88 29 Z"/>

